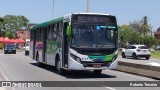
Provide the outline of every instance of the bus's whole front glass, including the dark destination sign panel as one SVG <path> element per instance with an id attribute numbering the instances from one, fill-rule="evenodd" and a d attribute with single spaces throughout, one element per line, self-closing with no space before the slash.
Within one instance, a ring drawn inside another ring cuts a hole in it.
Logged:
<path id="1" fill-rule="evenodd" d="M 114 16 L 74 15 L 71 46 L 75 48 L 115 48 L 117 23 Z"/>

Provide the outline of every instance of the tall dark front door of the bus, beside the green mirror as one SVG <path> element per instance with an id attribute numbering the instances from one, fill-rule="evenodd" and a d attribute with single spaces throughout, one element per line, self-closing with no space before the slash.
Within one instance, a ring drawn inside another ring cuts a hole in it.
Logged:
<path id="1" fill-rule="evenodd" d="M 62 67 L 68 68 L 68 39 L 66 36 L 68 22 L 63 23 Z"/>

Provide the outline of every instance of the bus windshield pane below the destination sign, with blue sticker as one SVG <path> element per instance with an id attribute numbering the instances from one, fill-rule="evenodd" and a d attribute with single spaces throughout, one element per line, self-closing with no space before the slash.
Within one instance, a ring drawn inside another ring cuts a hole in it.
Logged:
<path id="1" fill-rule="evenodd" d="M 71 46 L 75 48 L 115 48 L 116 25 L 76 23 L 72 25 Z"/>

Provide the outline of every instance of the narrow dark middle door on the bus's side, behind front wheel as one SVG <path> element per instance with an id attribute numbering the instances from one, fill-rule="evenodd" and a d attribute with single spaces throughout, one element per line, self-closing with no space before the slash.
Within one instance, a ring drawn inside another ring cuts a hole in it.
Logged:
<path id="1" fill-rule="evenodd" d="M 47 46 L 47 28 L 43 29 L 43 42 L 42 42 L 42 62 L 46 62 L 46 46 Z"/>

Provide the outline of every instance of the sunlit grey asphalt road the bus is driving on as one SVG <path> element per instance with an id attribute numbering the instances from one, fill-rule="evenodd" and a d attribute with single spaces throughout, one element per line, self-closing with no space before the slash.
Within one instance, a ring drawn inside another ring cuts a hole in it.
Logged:
<path id="1" fill-rule="evenodd" d="M 114 70 L 104 70 L 97 76 L 92 71 L 71 71 L 65 75 L 56 73 L 54 67 L 37 67 L 34 60 L 17 54 L 0 53 L 0 81 L 157 81 Z M 85 82 L 84 82 L 85 83 Z M 123 83 L 123 82 L 121 82 Z M 50 88 L 0 88 L 0 90 L 159 90 L 157 87 L 50 87 Z"/>

